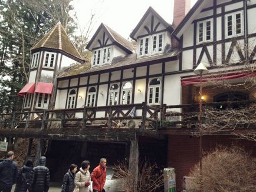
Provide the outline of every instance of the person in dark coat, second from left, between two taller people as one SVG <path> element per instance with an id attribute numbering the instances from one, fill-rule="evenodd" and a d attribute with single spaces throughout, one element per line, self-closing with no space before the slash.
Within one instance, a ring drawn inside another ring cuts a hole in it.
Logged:
<path id="1" fill-rule="evenodd" d="M 31 177 L 31 171 L 33 169 L 33 162 L 28 160 L 25 165 L 19 170 L 17 176 L 17 182 L 14 192 L 27 192 L 28 182 Z"/>

